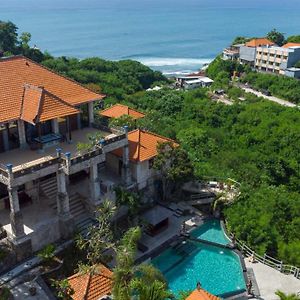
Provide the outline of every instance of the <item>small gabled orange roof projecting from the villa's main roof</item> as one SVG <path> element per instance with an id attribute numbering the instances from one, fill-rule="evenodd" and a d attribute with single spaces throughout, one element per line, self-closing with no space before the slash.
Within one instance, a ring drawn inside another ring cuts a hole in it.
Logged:
<path id="1" fill-rule="evenodd" d="M 44 88 L 25 85 L 20 116 L 22 120 L 35 125 L 39 122 L 78 113 L 79 110 Z"/>

